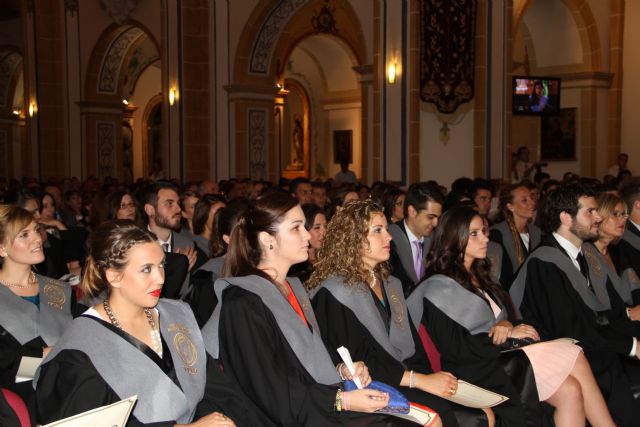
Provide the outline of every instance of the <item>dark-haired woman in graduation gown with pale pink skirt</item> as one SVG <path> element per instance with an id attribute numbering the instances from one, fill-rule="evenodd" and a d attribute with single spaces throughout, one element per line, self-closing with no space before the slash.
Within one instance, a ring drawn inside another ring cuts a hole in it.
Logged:
<path id="1" fill-rule="evenodd" d="M 433 338 L 440 350 L 442 365 L 469 378 L 479 386 L 494 389 L 517 402 L 516 384 L 510 380 L 500 345 L 523 344 L 539 340 L 536 330 L 517 322 L 510 311 L 508 295 L 491 279 L 486 259 L 486 226 L 473 209 L 457 207 L 442 216 L 427 256 L 427 280 L 409 297 L 410 313 Z M 514 326 L 515 324 L 515 326 Z M 523 346 L 535 375 L 540 400 L 555 407 L 556 426 L 585 424 L 613 426 L 613 420 L 591 372 L 575 345 L 544 342 Z M 503 368 L 504 369 L 504 368 Z M 496 413 L 500 415 L 499 407 Z M 507 414 L 509 416 L 509 414 Z M 539 425 L 538 420 L 517 424 Z M 512 425 L 509 422 L 508 425 Z"/>

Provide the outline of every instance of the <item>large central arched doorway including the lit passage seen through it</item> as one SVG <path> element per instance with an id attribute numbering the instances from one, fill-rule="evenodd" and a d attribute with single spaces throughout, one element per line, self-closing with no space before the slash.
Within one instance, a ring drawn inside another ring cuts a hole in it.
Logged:
<path id="1" fill-rule="evenodd" d="M 372 59 L 367 59 L 358 15 L 346 0 L 261 0 L 247 22 L 228 86 L 235 146 L 230 173 L 276 182 L 286 170 L 290 159 L 283 156 L 293 146 L 291 126 L 295 123 L 295 115 L 289 118 L 293 122 L 284 122 L 283 108 L 291 94 L 286 87 L 289 79 L 296 81 L 309 99 L 309 165 L 304 166 L 304 174 L 310 178 L 331 176 L 333 168 L 338 168 L 331 158 L 332 131 L 352 129 L 354 141 L 358 137 L 354 146 L 363 148 L 367 144 L 362 141 L 372 133 L 363 124 L 373 122 L 372 112 L 368 103 L 360 102 L 365 93 L 372 96 L 372 85 L 362 83 L 373 80 L 373 68 L 367 66 Z M 339 72 L 333 70 L 336 57 L 344 64 Z M 344 81 L 355 84 L 339 88 Z M 270 120 L 274 108 L 275 124 Z M 352 110 L 350 117 L 358 115 L 357 124 L 345 120 L 347 109 Z M 365 170 L 366 151 L 354 153 L 354 161 L 356 167 Z"/>

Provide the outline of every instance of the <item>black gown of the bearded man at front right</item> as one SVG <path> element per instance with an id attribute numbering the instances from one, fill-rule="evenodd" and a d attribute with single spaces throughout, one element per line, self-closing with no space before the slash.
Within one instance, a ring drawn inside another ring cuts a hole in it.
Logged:
<path id="1" fill-rule="evenodd" d="M 540 246 L 557 247 L 566 255 L 552 236 L 547 236 Z M 591 310 L 558 265 L 537 258 L 528 260 L 520 311 L 535 325 L 542 339 L 577 339 L 616 424 L 637 425 L 640 408 L 633 400 L 629 378 L 619 359 L 628 357 L 633 340 L 611 325 L 602 324 L 601 316 L 606 317 L 606 313 L 599 316 Z"/>

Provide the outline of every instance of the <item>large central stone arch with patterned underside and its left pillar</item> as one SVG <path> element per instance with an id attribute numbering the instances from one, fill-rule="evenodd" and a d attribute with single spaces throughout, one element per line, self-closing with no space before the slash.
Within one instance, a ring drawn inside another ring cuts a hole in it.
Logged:
<path id="1" fill-rule="evenodd" d="M 235 175 L 278 180 L 282 166 L 275 144 L 278 125 L 269 119 L 278 97 L 276 83 L 283 83 L 280 79 L 295 47 L 313 35 L 339 40 L 354 59 L 354 69 L 367 65 L 360 19 L 348 0 L 261 0 L 249 16 L 228 87 L 230 114 L 235 117 Z M 364 117 L 365 112 L 361 120 Z M 364 132 L 362 140 L 366 141 Z"/>

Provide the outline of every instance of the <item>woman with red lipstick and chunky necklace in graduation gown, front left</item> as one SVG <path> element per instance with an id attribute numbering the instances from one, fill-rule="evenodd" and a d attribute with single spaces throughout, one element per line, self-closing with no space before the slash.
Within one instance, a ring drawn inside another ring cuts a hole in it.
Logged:
<path id="1" fill-rule="evenodd" d="M 38 422 L 138 395 L 127 426 L 269 425 L 206 356 L 188 306 L 159 300 L 164 252 L 151 233 L 106 222 L 89 249 L 80 286 L 108 297 L 73 321 L 36 373 Z"/>

